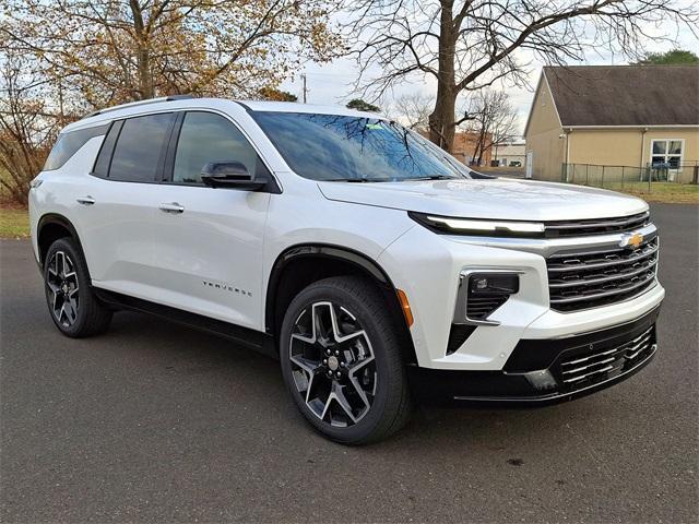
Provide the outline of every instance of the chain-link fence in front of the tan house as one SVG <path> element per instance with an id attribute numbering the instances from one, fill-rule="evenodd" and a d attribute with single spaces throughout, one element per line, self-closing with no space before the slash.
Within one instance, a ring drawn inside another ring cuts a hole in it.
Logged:
<path id="1" fill-rule="evenodd" d="M 605 189 L 651 192 L 656 183 L 699 183 L 699 163 L 602 166 L 564 164 L 561 181 Z"/>

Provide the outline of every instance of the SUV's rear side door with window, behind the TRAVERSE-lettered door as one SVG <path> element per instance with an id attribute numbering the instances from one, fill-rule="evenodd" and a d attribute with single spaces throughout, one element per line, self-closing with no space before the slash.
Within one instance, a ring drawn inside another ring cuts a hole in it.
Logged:
<path id="1" fill-rule="evenodd" d="M 175 114 L 117 120 L 85 194 L 78 198 L 83 247 L 97 287 L 156 300 L 154 221 Z"/>

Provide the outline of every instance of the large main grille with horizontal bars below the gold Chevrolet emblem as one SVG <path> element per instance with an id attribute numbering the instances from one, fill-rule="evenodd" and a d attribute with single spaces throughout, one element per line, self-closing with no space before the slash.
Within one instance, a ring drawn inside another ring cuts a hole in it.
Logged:
<path id="1" fill-rule="evenodd" d="M 637 249 L 555 253 L 546 260 L 550 307 L 577 311 L 631 298 L 655 281 L 657 237 Z"/>

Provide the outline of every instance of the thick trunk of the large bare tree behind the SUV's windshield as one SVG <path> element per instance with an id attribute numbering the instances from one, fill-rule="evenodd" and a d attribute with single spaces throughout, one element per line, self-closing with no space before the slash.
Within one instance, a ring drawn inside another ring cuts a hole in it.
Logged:
<path id="1" fill-rule="evenodd" d="M 454 82 L 457 32 L 453 26 L 452 11 L 453 1 L 442 0 L 437 99 L 435 110 L 429 116 L 429 140 L 448 152 L 451 152 L 454 145 L 454 115 L 458 94 Z"/>

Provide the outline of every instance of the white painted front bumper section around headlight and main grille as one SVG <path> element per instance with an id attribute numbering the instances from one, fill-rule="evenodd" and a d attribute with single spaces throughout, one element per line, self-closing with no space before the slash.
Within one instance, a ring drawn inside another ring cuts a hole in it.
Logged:
<path id="1" fill-rule="evenodd" d="M 642 231 L 651 238 L 655 227 Z M 521 341 L 546 344 L 608 330 L 661 305 L 665 290 L 654 281 L 640 294 L 613 303 L 566 312 L 550 307 L 550 255 L 571 249 L 619 249 L 621 240 L 621 234 L 538 240 L 472 238 L 435 235 L 417 226 L 390 245 L 378 261 L 410 300 L 415 319 L 411 335 L 419 368 L 500 372 Z M 471 271 L 519 275 L 519 293 L 487 317 L 490 322 L 457 321 L 461 276 Z"/>

